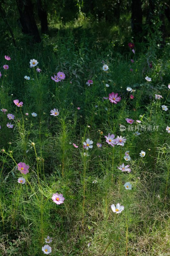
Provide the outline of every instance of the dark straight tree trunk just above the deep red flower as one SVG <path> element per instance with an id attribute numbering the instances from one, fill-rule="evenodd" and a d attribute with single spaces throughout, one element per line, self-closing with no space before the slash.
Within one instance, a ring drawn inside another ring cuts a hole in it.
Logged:
<path id="1" fill-rule="evenodd" d="M 142 3 L 141 0 L 132 0 L 132 33 L 134 37 L 142 32 Z"/>

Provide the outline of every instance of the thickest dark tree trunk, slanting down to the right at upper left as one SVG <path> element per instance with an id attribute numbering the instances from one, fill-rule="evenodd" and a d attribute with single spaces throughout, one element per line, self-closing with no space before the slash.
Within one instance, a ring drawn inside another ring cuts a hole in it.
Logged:
<path id="1" fill-rule="evenodd" d="M 40 43 L 41 38 L 33 15 L 33 4 L 31 0 L 17 0 L 20 14 L 20 24 L 24 34 L 33 36 L 34 43 Z"/>

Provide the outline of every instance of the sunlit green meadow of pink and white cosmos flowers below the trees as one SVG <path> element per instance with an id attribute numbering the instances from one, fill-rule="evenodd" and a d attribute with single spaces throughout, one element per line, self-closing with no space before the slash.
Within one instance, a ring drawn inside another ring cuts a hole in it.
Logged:
<path id="1" fill-rule="evenodd" d="M 91 19 L 1 42 L 0 256 L 170 255 L 170 44 Z"/>

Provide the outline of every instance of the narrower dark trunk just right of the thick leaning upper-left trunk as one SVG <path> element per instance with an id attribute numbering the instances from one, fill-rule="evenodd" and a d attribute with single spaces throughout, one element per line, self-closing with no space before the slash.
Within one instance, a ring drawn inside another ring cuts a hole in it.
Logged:
<path id="1" fill-rule="evenodd" d="M 41 22 L 41 33 L 46 34 L 48 31 L 47 11 L 42 7 L 41 0 L 37 0 L 38 17 Z"/>

